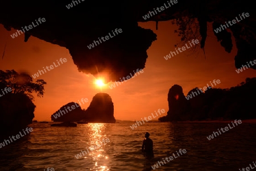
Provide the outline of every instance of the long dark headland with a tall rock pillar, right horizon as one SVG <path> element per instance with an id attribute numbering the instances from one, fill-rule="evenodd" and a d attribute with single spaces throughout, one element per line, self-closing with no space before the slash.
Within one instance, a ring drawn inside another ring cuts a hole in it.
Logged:
<path id="1" fill-rule="evenodd" d="M 230 89 L 214 89 L 208 87 L 204 93 L 198 88 L 184 96 L 182 87 L 174 85 L 168 93 L 169 111 L 160 121 L 188 120 L 229 120 L 254 119 L 256 103 L 256 78 L 246 78 L 245 82 Z M 188 98 L 191 95 L 192 98 Z"/>

